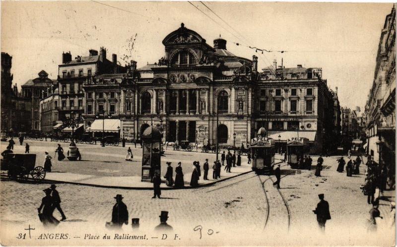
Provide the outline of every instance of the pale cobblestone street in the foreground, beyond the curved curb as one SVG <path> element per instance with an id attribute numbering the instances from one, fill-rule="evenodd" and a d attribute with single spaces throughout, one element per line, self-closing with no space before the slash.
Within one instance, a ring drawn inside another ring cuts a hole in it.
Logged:
<path id="1" fill-rule="evenodd" d="M 74 234 L 106 232 L 106 221 L 111 219 L 114 196 L 123 194 L 128 206 L 130 219 L 140 219 L 140 229 L 153 229 L 159 223 L 160 211 L 169 211 L 168 223 L 174 227 L 184 241 L 189 242 L 147 242 L 152 245 L 383 245 L 391 246 L 394 241 L 393 229 L 388 228 L 391 220 L 387 202 L 381 206 L 383 220 L 378 221 L 378 234 L 366 231 L 366 219 L 370 206 L 366 196 L 360 190 L 363 183 L 364 166 L 359 176 L 346 177 L 346 173 L 337 173 L 336 157 L 325 158 L 322 176 L 314 176 L 315 171 L 294 171 L 282 166 L 281 193 L 286 198 L 291 211 L 289 235 L 285 226 L 270 224 L 265 227 L 267 203 L 263 187 L 254 173 L 245 174 L 225 182 L 208 187 L 187 190 L 163 191 L 162 199 L 152 199 L 150 190 L 124 190 L 79 185 L 58 184 L 62 198 L 62 208 L 67 220 L 57 231 L 70 231 Z M 317 160 L 317 157 L 313 157 Z M 265 176 L 261 176 L 265 178 Z M 264 179 L 263 179 L 264 180 Z M 40 229 L 37 207 L 44 196 L 42 189 L 48 184 L 19 184 L 1 182 L 1 224 L 6 226 L 34 225 Z M 277 190 L 270 184 L 268 190 L 270 213 L 275 223 L 285 223 L 286 210 Z M 326 232 L 319 233 L 315 209 L 318 194 L 325 193 L 330 203 L 331 220 L 327 222 Z M 272 198 L 274 197 L 274 198 Z M 394 199 L 394 198 L 392 198 Z M 59 212 L 54 214 L 60 218 Z M 130 220 L 131 224 L 131 220 Z M 202 239 L 199 230 L 202 227 Z M 10 230 L 15 235 L 20 230 Z M 17 228 L 20 229 L 20 228 Z M 197 228 L 199 229 L 199 228 Z M 213 235 L 209 235 L 209 229 Z M 133 233 L 131 226 L 123 227 L 124 233 Z M 215 237 L 218 236 L 218 237 Z M 78 241 L 75 239 L 73 241 Z M 201 242 L 200 242 L 201 241 Z M 249 241 L 249 242 L 248 242 Z M 50 243 L 50 242 L 49 242 Z M 68 242 L 70 244 L 71 242 Z M 88 245 L 87 242 L 79 242 Z M 113 242 L 112 242 L 113 243 Z M 43 245 L 43 243 L 39 243 Z M 58 243 L 63 244 L 66 243 Z M 111 243 L 107 243 L 110 245 Z M 128 245 L 126 243 L 114 243 Z M 37 245 L 37 243 L 36 243 Z M 142 245 L 142 243 L 136 243 Z"/>

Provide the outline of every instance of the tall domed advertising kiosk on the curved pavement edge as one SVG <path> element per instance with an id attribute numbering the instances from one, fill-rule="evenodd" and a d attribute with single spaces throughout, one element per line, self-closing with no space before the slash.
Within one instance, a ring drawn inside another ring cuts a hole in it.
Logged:
<path id="1" fill-rule="evenodd" d="M 161 174 L 161 134 L 153 126 L 147 127 L 142 138 L 142 182 L 152 182 L 155 173 Z"/>

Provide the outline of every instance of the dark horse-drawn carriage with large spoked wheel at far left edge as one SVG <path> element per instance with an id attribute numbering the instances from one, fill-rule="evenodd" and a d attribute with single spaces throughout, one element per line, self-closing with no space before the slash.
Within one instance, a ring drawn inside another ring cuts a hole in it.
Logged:
<path id="1" fill-rule="evenodd" d="M 35 181 L 42 181 L 46 177 L 44 168 L 36 167 L 36 154 L 15 154 L 2 162 L 7 163 L 7 176 L 11 180 L 26 181 L 31 176 Z"/>

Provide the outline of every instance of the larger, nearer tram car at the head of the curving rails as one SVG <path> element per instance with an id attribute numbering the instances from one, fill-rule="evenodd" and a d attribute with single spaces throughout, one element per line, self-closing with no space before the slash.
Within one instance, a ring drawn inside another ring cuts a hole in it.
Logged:
<path id="1" fill-rule="evenodd" d="M 256 174 L 270 175 L 274 166 L 274 139 L 256 137 L 251 139 L 252 170 Z"/>

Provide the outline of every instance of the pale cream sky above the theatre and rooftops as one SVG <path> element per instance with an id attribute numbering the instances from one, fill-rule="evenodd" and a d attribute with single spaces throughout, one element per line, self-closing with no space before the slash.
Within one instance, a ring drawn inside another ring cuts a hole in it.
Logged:
<path id="1" fill-rule="evenodd" d="M 205 4 L 205 5 L 204 5 Z M 164 56 L 162 40 L 181 26 L 213 46 L 219 35 L 236 56 L 259 57 L 259 69 L 321 67 L 341 106 L 364 110 L 385 17 L 393 3 L 1 1 L 1 52 L 13 57 L 13 83 L 56 79 L 62 53 L 107 49 L 122 65 Z M 236 45 L 236 43 L 240 45 Z M 255 49 L 273 51 L 256 53 Z M 280 53 L 277 51 L 286 51 Z M 122 61 L 124 59 L 125 61 Z"/>

